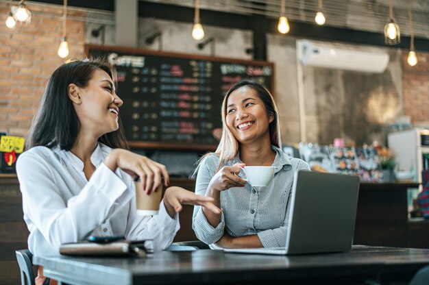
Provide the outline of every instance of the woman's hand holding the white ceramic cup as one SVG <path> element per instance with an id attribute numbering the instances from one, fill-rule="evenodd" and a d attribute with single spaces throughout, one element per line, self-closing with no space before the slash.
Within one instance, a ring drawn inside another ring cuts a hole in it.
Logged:
<path id="1" fill-rule="evenodd" d="M 244 167 L 244 163 L 236 163 L 233 166 L 223 166 L 215 176 L 210 180 L 208 189 L 215 191 L 223 191 L 232 187 L 244 187 L 246 180 L 239 177 L 240 167 Z"/>

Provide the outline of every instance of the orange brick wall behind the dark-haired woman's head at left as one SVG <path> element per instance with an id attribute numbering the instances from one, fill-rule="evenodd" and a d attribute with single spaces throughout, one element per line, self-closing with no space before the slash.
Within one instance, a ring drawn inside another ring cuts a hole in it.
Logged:
<path id="1" fill-rule="evenodd" d="M 14 1 L 15 3 L 16 1 Z M 0 131 L 25 136 L 53 71 L 64 62 L 57 55 L 62 36 L 62 7 L 27 4 L 32 23 L 5 26 L 10 11 L 0 7 Z M 83 16 L 69 10 L 69 16 Z M 69 58 L 84 56 L 84 22 L 67 20 Z"/>

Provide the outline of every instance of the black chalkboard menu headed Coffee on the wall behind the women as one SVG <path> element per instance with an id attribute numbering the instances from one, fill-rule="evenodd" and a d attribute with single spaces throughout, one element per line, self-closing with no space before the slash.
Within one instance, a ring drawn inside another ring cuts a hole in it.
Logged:
<path id="1" fill-rule="evenodd" d="M 131 147 L 212 150 L 228 89 L 253 79 L 273 92 L 273 64 L 86 45 L 117 68 L 120 116 Z"/>

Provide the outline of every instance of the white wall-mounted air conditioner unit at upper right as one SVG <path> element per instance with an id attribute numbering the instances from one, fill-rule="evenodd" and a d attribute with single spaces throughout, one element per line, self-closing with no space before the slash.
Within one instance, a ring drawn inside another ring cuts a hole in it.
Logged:
<path id="1" fill-rule="evenodd" d="M 383 73 L 389 64 L 389 55 L 382 51 L 361 51 L 308 40 L 298 40 L 297 49 L 299 61 L 306 66 Z"/>

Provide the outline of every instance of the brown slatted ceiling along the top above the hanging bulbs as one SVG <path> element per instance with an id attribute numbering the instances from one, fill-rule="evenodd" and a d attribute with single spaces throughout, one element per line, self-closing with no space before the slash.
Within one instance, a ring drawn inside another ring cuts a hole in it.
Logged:
<path id="1" fill-rule="evenodd" d="M 393 15 L 400 25 L 401 33 L 410 35 L 408 3 L 411 0 L 392 0 Z M 1 0 L 1 2 L 9 2 Z M 17 0 L 12 1 L 18 3 Z M 53 3 L 62 5 L 62 0 L 27 1 L 29 3 Z M 117 0 L 119 4 L 126 3 Z M 165 4 L 165 7 L 194 8 L 194 0 L 140 0 L 139 10 L 145 10 L 145 4 Z M 211 10 L 238 15 L 263 15 L 278 18 L 280 0 L 200 0 L 201 22 L 204 23 L 204 11 Z M 114 11 L 114 0 L 69 0 L 69 7 Z M 168 5 L 168 6 L 167 6 Z M 318 0 L 286 0 L 286 16 L 292 23 L 314 23 Z M 429 39 L 429 0 L 411 2 L 413 30 L 416 38 Z M 382 33 L 389 16 L 389 0 L 323 0 L 323 12 L 327 27 L 339 27 L 356 31 Z M 192 21 L 192 19 L 190 19 Z"/>

